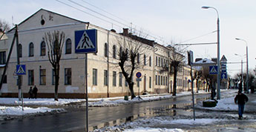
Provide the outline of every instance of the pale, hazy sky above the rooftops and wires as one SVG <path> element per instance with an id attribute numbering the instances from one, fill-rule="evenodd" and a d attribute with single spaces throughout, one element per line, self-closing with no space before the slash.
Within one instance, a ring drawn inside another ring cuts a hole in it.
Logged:
<path id="1" fill-rule="evenodd" d="M 220 15 L 220 57 L 225 55 L 229 62 L 240 62 L 241 57 L 234 56 L 234 53 L 241 56 L 246 54 L 246 44 L 234 38 L 245 39 L 249 47 L 249 68 L 255 68 L 255 0 L 86 0 L 86 2 L 106 10 L 108 13 L 114 14 L 125 21 L 92 7 L 84 2 L 85 0 L 72 1 L 76 1 L 82 6 L 89 7 L 126 25 L 132 25 L 132 27 L 136 27 L 137 30 L 142 30 L 150 36 L 157 36 L 157 38 L 160 36 L 164 40 L 164 42 L 160 42 L 160 39 L 157 39 L 160 44 L 170 44 L 170 42 L 216 42 L 217 33 L 212 32 L 217 30 L 217 13 L 212 9 L 201 8 L 204 5 L 215 7 Z M 82 13 L 54 0 L 0 0 L 0 3 L 4 5 L 1 6 L 1 10 L 4 10 L 4 13 L 1 13 L 0 19 L 4 19 L 11 24 L 13 16 L 13 23 L 19 24 L 40 8 L 44 8 L 73 19 L 96 24 L 108 30 L 114 28 L 117 32 L 121 32 L 122 27 L 125 27 L 120 24 L 119 26 L 111 24 L 114 22 L 109 19 L 107 19 L 108 22 L 105 22 L 90 16 L 88 13 L 95 16 L 99 15 L 68 0 L 62 0 L 62 2 L 78 7 L 87 13 Z M 103 18 L 103 16 L 99 17 Z M 205 34 L 208 35 L 203 36 Z M 193 39 L 197 36 L 201 37 Z M 188 50 L 194 51 L 194 58 L 213 58 L 217 56 L 217 45 L 190 46 Z M 246 62 L 245 57 L 243 57 L 243 62 Z M 246 64 L 243 67 L 246 67 Z M 228 64 L 227 68 L 231 75 L 240 72 L 240 64 Z"/>

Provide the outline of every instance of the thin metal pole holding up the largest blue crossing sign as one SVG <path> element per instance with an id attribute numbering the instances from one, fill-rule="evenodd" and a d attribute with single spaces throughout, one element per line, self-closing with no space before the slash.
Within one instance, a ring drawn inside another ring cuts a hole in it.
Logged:
<path id="1" fill-rule="evenodd" d="M 85 53 L 85 99 L 86 99 L 86 131 L 88 132 L 88 72 L 87 53 Z"/>

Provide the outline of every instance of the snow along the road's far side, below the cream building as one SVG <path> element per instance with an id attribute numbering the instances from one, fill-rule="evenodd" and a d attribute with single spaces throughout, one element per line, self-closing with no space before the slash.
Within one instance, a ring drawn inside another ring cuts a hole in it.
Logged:
<path id="1" fill-rule="evenodd" d="M 204 93 L 200 91 L 199 93 Z M 186 96 L 191 95 L 191 92 L 181 92 L 177 93 L 177 96 Z M 131 98 L 128 101 L 124 100 L 124 97 L 114 97 L 114 98 L 102 98 L 102 99 L 88 99 L 89 106 L 113 106 L 113 105 L 120 105 L 120 104 L 129 104 L 134 102 L 150 102 L 154 100 L 160 99 L 170 99 L 175 98 L 176 96 L 171 96 L 171 94 L 149 94 L 149 95 L 142 95 L 142 99 L 138 97 L 135 99 Z M 54 99 L 24 99 L 23 103 L 25 106 L 27 105 L 35 105 L 35 106 L 44 106 L 39 108 L 29 108 L 24 107 L 24 111 L 22 111 L 21 107 L 1 107 L 0 108 L 0 116 L 1 115 L 22 115 L 27 113 L 43 113 L 52 110 L 59 110 L 59 109 L 50 109 L 45 108 L 47 106 L 56 106 L 56 105 L 67 105 L 73 102 L 85 102 L 85 99 L 59 99 L 58 102 L 54 101 Z M 224 103 L 224 102 L 223 102 Z M 18 98 L 0 98 L 1 105 L 22 105 L 22 101 L 19 101 Z M 231 107 L 232 108 L 232 107 Z"/>

